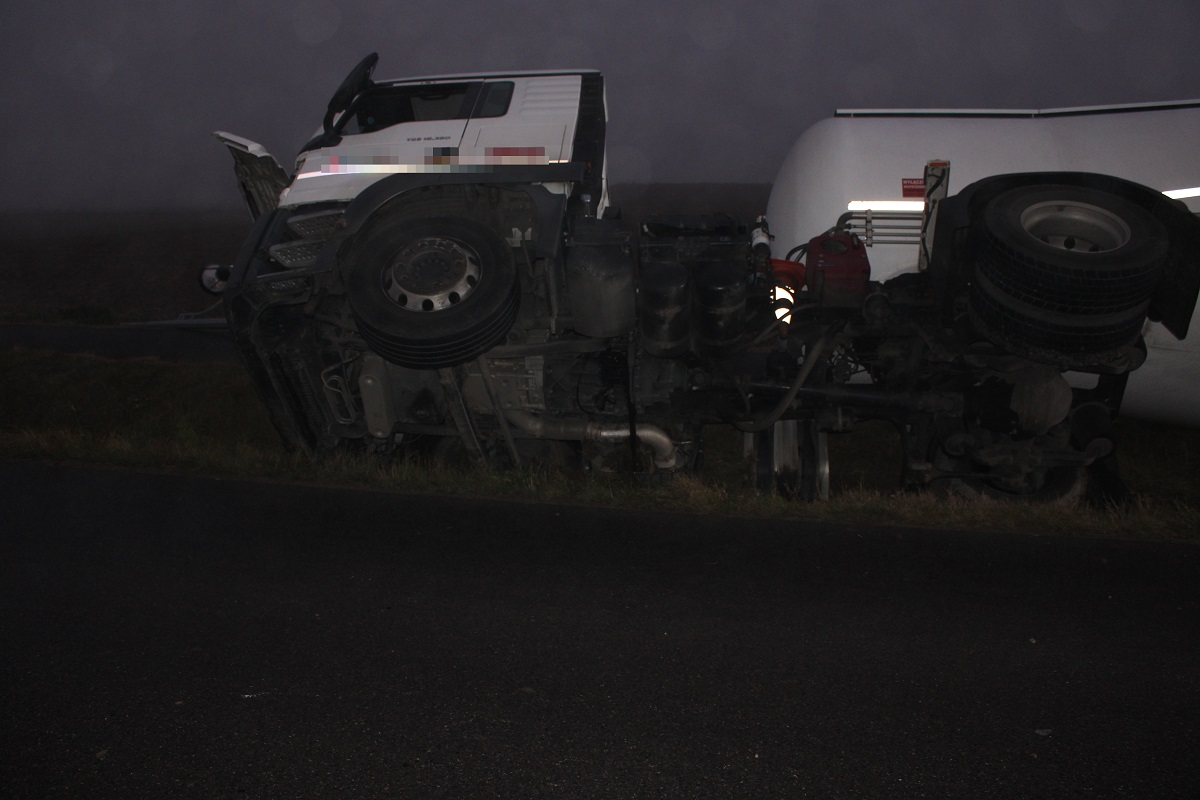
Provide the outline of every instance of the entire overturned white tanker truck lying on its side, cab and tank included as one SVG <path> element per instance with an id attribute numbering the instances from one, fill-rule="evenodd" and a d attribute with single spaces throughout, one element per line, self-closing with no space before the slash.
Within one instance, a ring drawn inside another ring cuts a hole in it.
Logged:
<path id="1" fill-rule="evenodd" d="M 218 134 L 256 225 L 205 279 L 289 446 L 670 474 L 728 425 L 811 498 L 827 434 L 884 419 L 908 488 L 1049 498 L 1120 491 L 1126 396 L 1195 421 L 1200 221 L 1163 191 L 1200 186 L 1200 103 L 842 115 L 766 218 L 632 230 L 600 73 L 376 61 L 292 174 Z"/>

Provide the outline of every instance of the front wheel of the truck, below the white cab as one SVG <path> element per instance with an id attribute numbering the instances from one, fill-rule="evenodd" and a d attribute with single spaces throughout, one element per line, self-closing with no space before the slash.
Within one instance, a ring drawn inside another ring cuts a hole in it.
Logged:
<path id="1" fill-rule="evenodd" d="M 456 217 L 380 219 L 342 264 L 362 338 L 392 363 L 439 369 L 498 344 L 517 315 L 511 248 Z"/>

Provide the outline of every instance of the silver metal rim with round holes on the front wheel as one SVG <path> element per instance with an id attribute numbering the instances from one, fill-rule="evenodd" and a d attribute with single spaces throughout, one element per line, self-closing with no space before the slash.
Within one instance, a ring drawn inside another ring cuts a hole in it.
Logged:
<path id="1" fill-rule="evenodd" d="M 401 308 L 439 312 L 456 306 L 479 285 L 480 259 L 461 242 L 416 239 L 383 271 L 383 290 Z"/>

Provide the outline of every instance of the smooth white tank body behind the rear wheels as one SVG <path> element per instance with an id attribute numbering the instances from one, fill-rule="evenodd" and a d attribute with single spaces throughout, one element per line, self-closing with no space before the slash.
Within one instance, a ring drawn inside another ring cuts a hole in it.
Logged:
<path id="1" fill-rule="evenodd" d="M 948 186 L 992 175 L 1074 172 L 1118 175 L 1200 212 L 1200 101 L 1060 109 L 846 109 L 805 131 L 779 170 L 767 218 L 776 249 L 808 241 L 847 211 L 871 240 L 871 276 L 918 269 L 924 167 L 952 166 Z M 868 225 L 868 211 L 871 211 Z M 1200 307 L 1190 329 L 1200 327 Z M 1127 416 L 1200 426 L 1200 337 L 1160 324 L 1142 331 L 1146 363 L 1129 377 Z M 1072 375 L 1074 383 L 1086 378 Z"/>

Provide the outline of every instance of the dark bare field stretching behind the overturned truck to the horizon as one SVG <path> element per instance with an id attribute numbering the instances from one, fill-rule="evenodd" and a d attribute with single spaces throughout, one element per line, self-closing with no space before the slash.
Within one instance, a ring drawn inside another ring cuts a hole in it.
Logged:
<path id="1" fill-rule="evenodd" d="M 665 212 L 752 219 L 769 187 L 630 185 L 611 194 L 631 222 Z M 0 323 L 119 324 L 203 311 L 216 297 L 200 288 L 200 269 L 232 263 L 250 228 L 238 209 L 0 217 Z"/>

